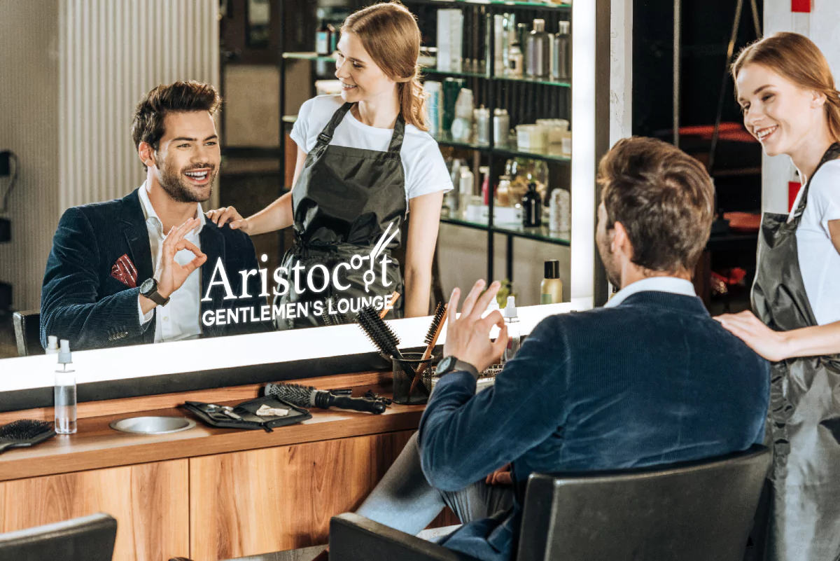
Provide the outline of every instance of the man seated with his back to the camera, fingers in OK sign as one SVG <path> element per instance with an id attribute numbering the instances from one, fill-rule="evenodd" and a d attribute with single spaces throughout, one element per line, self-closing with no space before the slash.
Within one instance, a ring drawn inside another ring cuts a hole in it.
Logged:
<path id="1" fill-rule="evenodd" d="M 529 474 L 672 464 L 762 441 L 768 364 L 709 316 L 690 281 L 711 227 L 706 170 L 634 138 L 599 175 L 597 245 L 622 290 L 603 308 L 545 318 L 475 395 L 507 342 L 499 312 L 481 318 L 499 285 L 481 294 L 477 282 L 457 319 L 455 289 L 420 430 L 361 516 L 416 534 L 450 506 L 464 525 L 441 543 L 501 561 L 517 547 Z"/>

